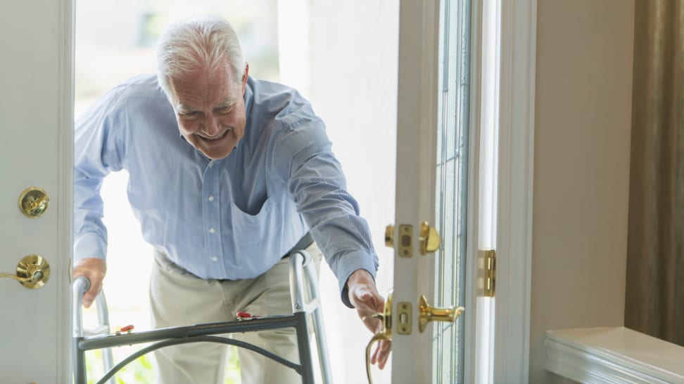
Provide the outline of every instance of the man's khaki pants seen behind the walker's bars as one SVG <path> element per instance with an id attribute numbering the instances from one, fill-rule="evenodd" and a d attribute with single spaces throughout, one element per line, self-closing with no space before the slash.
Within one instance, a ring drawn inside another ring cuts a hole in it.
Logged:
<path id="1" fill-rule="evenodd" d="M 322 257 L 316 243 L 306 251 L 317 269 Z M 154 328 L 184 326 L 236 319 L 236 312 L 258 316 L 291 315 L 289 258 L 280 260 L 265 274 L 246 280 L 205 280 L 155 252 L 150 281 Z M 232 336 L 299 363 L 293 328 L 236 333 Z M 243 384 L 301 383 L 291 368 L 243 348 L 239 350 Z M 155 377 L 161 384 L 223 384 L 227 363 L 226 345 L 189 343 L 154 352 Z"/>

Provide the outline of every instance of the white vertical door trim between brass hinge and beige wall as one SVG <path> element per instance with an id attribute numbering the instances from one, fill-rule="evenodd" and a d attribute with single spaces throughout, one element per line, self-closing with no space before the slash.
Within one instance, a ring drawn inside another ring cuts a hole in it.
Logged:
<path id="1" fill-rule="evenodd" d="M 529 372 L 537 1 L 502 1 L 494 383 Z"/>

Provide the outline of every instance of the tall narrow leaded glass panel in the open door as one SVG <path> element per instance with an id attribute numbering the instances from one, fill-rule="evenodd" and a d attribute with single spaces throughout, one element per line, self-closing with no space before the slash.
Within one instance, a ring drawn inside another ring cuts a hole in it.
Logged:
<path id="1" fill-rule="evenodd" d="M 435 216 L 436 229 L 442 237 L 435 264 L 438 307 L 465 303 L 470 3 L 471 0 L 441 2 Z M 464 317 L 455 324 L 434 324 L 433 383 L 462 383 Z"/>

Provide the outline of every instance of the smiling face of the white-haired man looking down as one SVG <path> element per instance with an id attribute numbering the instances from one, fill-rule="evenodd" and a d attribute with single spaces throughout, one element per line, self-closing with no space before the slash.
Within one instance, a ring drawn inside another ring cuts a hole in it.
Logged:
<path id="1" fill-rule="evenodd" d="M 171 81 L 171 104 L 183 137 L 210 159 L 223 159 L 245 133 L 247 71 L 196 69 Z"/>

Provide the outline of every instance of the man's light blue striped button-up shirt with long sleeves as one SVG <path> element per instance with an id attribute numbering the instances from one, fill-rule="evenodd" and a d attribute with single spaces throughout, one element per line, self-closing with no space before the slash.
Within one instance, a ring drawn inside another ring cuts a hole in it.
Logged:
<path id="1" fill-rule="evenodd" d="M 97 101 L 75 128 L 76 260 L 106 257 L 99 190 L 126 169 L 144 239 L 180 267 L 204 279 L 257 277 L 310 230 L 349 305 L 349 275 L 375 275 L 378 260 L 323 121 L 292 88 L 252 78 L 245 107 L 243 138 L 210 161 L 180 135 L 156 75 Z"/>

